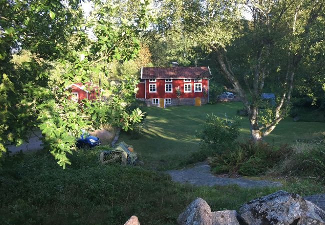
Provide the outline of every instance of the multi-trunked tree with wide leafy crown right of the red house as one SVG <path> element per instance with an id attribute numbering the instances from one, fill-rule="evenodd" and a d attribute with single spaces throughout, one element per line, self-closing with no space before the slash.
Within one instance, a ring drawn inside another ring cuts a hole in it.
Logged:
<path id="1" fill-rule="evenodd" d="M 254 140 L 267 136 L 286 116 L 294 77 L 306 76 L 299 65 L 322 61 L 324 5 L 319 1 L 165 0 L 158 8 L 155 28 L 161 38 L 171 35 L 184 42 L 192 57 L 207 55 L 207 62 L 218 63 L 231 85 L 228 90 L 236 92 L 247 108 Z M 251 18 L 245 19 L 243 11 Z M 317 82 L 321 90 L 323 72 L 316 74 L 308 83 Z M 260 94 L 265 91 L 276 94 L 276 107 L 260 118 Z"/>

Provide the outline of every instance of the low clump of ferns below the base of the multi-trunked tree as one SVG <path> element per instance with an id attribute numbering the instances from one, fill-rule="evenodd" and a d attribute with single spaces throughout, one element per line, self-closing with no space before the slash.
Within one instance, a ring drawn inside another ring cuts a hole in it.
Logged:
<path id="1" fill-rule="evenodd" d="M 248 140 L 237 143 L 235 147 L 226 148 L 224 152 L 215 154 L 208 160 L 215 173 L 256 176 L 288 158 L 292 151 L 287 145 L 276 148 L 267 142 L 254 143 Z"/>

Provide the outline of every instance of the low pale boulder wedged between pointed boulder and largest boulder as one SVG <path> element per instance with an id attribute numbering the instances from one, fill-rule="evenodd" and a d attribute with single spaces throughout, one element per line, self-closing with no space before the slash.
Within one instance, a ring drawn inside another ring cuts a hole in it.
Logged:
<path id="1" fill-rule="evenodd" d="M 239 215 L 236 210 L 211 212 L 212 225 L 239 225 Z M 240 219 L 239 219 L 240 220 Z"/>

